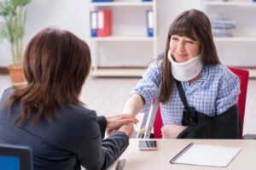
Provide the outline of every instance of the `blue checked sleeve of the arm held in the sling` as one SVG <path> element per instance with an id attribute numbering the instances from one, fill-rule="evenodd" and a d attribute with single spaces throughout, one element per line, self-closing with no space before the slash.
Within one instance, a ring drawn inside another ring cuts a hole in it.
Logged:
<path id="1" fill-rule="evenodd" d="M 232 105 L 236 105 L 239 94 L 239 78 L 226 68 L 218 84 L 216 100 L 217 115 L 227 111 Z"/>

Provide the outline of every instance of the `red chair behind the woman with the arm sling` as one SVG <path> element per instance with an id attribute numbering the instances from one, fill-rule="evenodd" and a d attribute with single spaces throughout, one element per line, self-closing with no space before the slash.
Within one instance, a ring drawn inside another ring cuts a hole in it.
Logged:
<path id="1" fill-rule="evenodd" d="M 247 84 L 249 79 L 249 72 L 247 70 L 242 70 L 238 68 L 230 68 L 230 71 L 236 74 L 236 76 L 239 77 L 239 80 L 240 80 L 241 94 L 239 94 L 238 96 L 237 105 L 238 105 L 239 116 L 241 121 L 241 135 L 242 135 L 245 106 L 246 106 L 246 100 L 247 100 Z M 163 122 L 162 122 L 162 117 L 161 117 L 160 107 L 159 107 L 154 119 L 154 138 L 155 139 L 162 138 L 162 134 L 161 134 L 162 125 L 163 125 Z"/>

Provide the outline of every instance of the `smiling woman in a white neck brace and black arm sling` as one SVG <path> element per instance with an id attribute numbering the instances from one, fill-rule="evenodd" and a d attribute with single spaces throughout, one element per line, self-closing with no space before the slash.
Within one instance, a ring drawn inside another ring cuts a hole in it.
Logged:
<path id="1" fill-rule="evenodd" d="M 173 21 L 163 57 L 143 74 L 124 112 L 147 113 L 158 98 L 163 138 L 238 138 L 238 94 L 238 77 L 218 59 L 210 20 L 191 9 Z"/>

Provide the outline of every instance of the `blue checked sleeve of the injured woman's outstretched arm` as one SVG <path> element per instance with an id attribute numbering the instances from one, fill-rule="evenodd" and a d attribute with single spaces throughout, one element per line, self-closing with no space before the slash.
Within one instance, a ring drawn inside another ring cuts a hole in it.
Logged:
<path id="1" fill-rule="evenodd" d="M 131 95 L 140 94 L 143 97 L 145 105 L 142 112 L 148 113 L 152 100 L 159 94 L 161 64 L 161 61 L 154 61 L 144 72 L 137 86 L 131 90 Z"/>

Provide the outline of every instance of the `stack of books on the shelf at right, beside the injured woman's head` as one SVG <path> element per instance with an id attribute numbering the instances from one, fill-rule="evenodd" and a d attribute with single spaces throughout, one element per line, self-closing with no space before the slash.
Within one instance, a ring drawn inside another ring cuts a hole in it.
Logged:
<path id="1" fill-rule="evenodd" d="M 213 37 L 233 37 L 236 29 L 236 20 L 225 17 L 217 17 L 210 20 Z"/>

